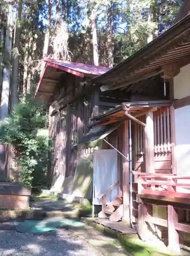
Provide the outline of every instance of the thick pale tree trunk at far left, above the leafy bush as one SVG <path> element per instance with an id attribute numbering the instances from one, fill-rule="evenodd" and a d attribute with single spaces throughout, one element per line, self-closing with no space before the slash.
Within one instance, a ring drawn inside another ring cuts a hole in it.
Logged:
<path id="1" fill-rule="evenodd" d="M 12 5 L 8 5 L 7 12 L 7 28 L 6 28 L 6 42 L 5 42 L 5 63 L 2 84 L 2 98 L 0 119 L 3 120 L 9 113 L 9 92 L 10 92 L 10 78 L 11 78 L 11 46 L 12 46 Z"/>

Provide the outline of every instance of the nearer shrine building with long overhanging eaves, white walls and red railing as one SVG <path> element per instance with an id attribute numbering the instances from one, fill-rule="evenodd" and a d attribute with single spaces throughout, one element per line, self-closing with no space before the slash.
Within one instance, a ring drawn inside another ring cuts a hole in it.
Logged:
<path id="1" fill-rule="evenodd" d="M 160 236 L 166 232 L 169 248 L 177 253 L 179 243 L 188 245 L 190 239 L 184 236 L 190 233 L 189 21 L 188 14 L 145 48 L 91 80 L 102 91 L 139 95 L 138 101 L 123 102 L 91 119 L 92 127 L 120 124 L 105 139 L 119 151 L 118 198 L 123 212 L 117 216 L 136 223 L 142 238 L 147 223 Z M 152 95 L 151 100 L 145 101 L 144 95 Z M 106 204 L 105 193 L 100 217 L 108 212 L 116 216 L 114 205 Z"/>

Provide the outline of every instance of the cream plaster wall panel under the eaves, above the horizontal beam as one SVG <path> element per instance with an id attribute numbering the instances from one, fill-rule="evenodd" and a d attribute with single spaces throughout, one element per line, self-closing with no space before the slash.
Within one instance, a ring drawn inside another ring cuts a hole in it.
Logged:
<path id="1" fill-rule="evenodd" d="M 190 64 L 181 68 L 174 77 L 174 98 L 181 99 L 190 96 Z"/>

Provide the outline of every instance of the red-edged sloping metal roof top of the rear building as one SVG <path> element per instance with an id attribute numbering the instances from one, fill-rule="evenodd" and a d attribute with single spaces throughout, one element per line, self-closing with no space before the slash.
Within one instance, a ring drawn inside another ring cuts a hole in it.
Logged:
<path id="1" fill-rule="evenodd" d="M 99 76 L 104 74 L 106 71 L 110 70 L 108 67 L 94 66 L 90 64 L 78 63 L 78 62 L 69 62 L 54 59 L 44 59 L 47 62 L 47 66 L 51 66 L 68 73 L 72 73 L 76 76 Z"/>

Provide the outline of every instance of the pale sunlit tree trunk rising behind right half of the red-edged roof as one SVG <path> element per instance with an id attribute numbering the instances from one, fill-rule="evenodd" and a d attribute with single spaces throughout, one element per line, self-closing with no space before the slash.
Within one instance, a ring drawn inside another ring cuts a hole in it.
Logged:
<path id="1" fill-rule="evenodd" d="M 95 3 L 92 4 L 91 23 L 92 23 L 93 63 L 94 65 L 99 66 Z"/>

